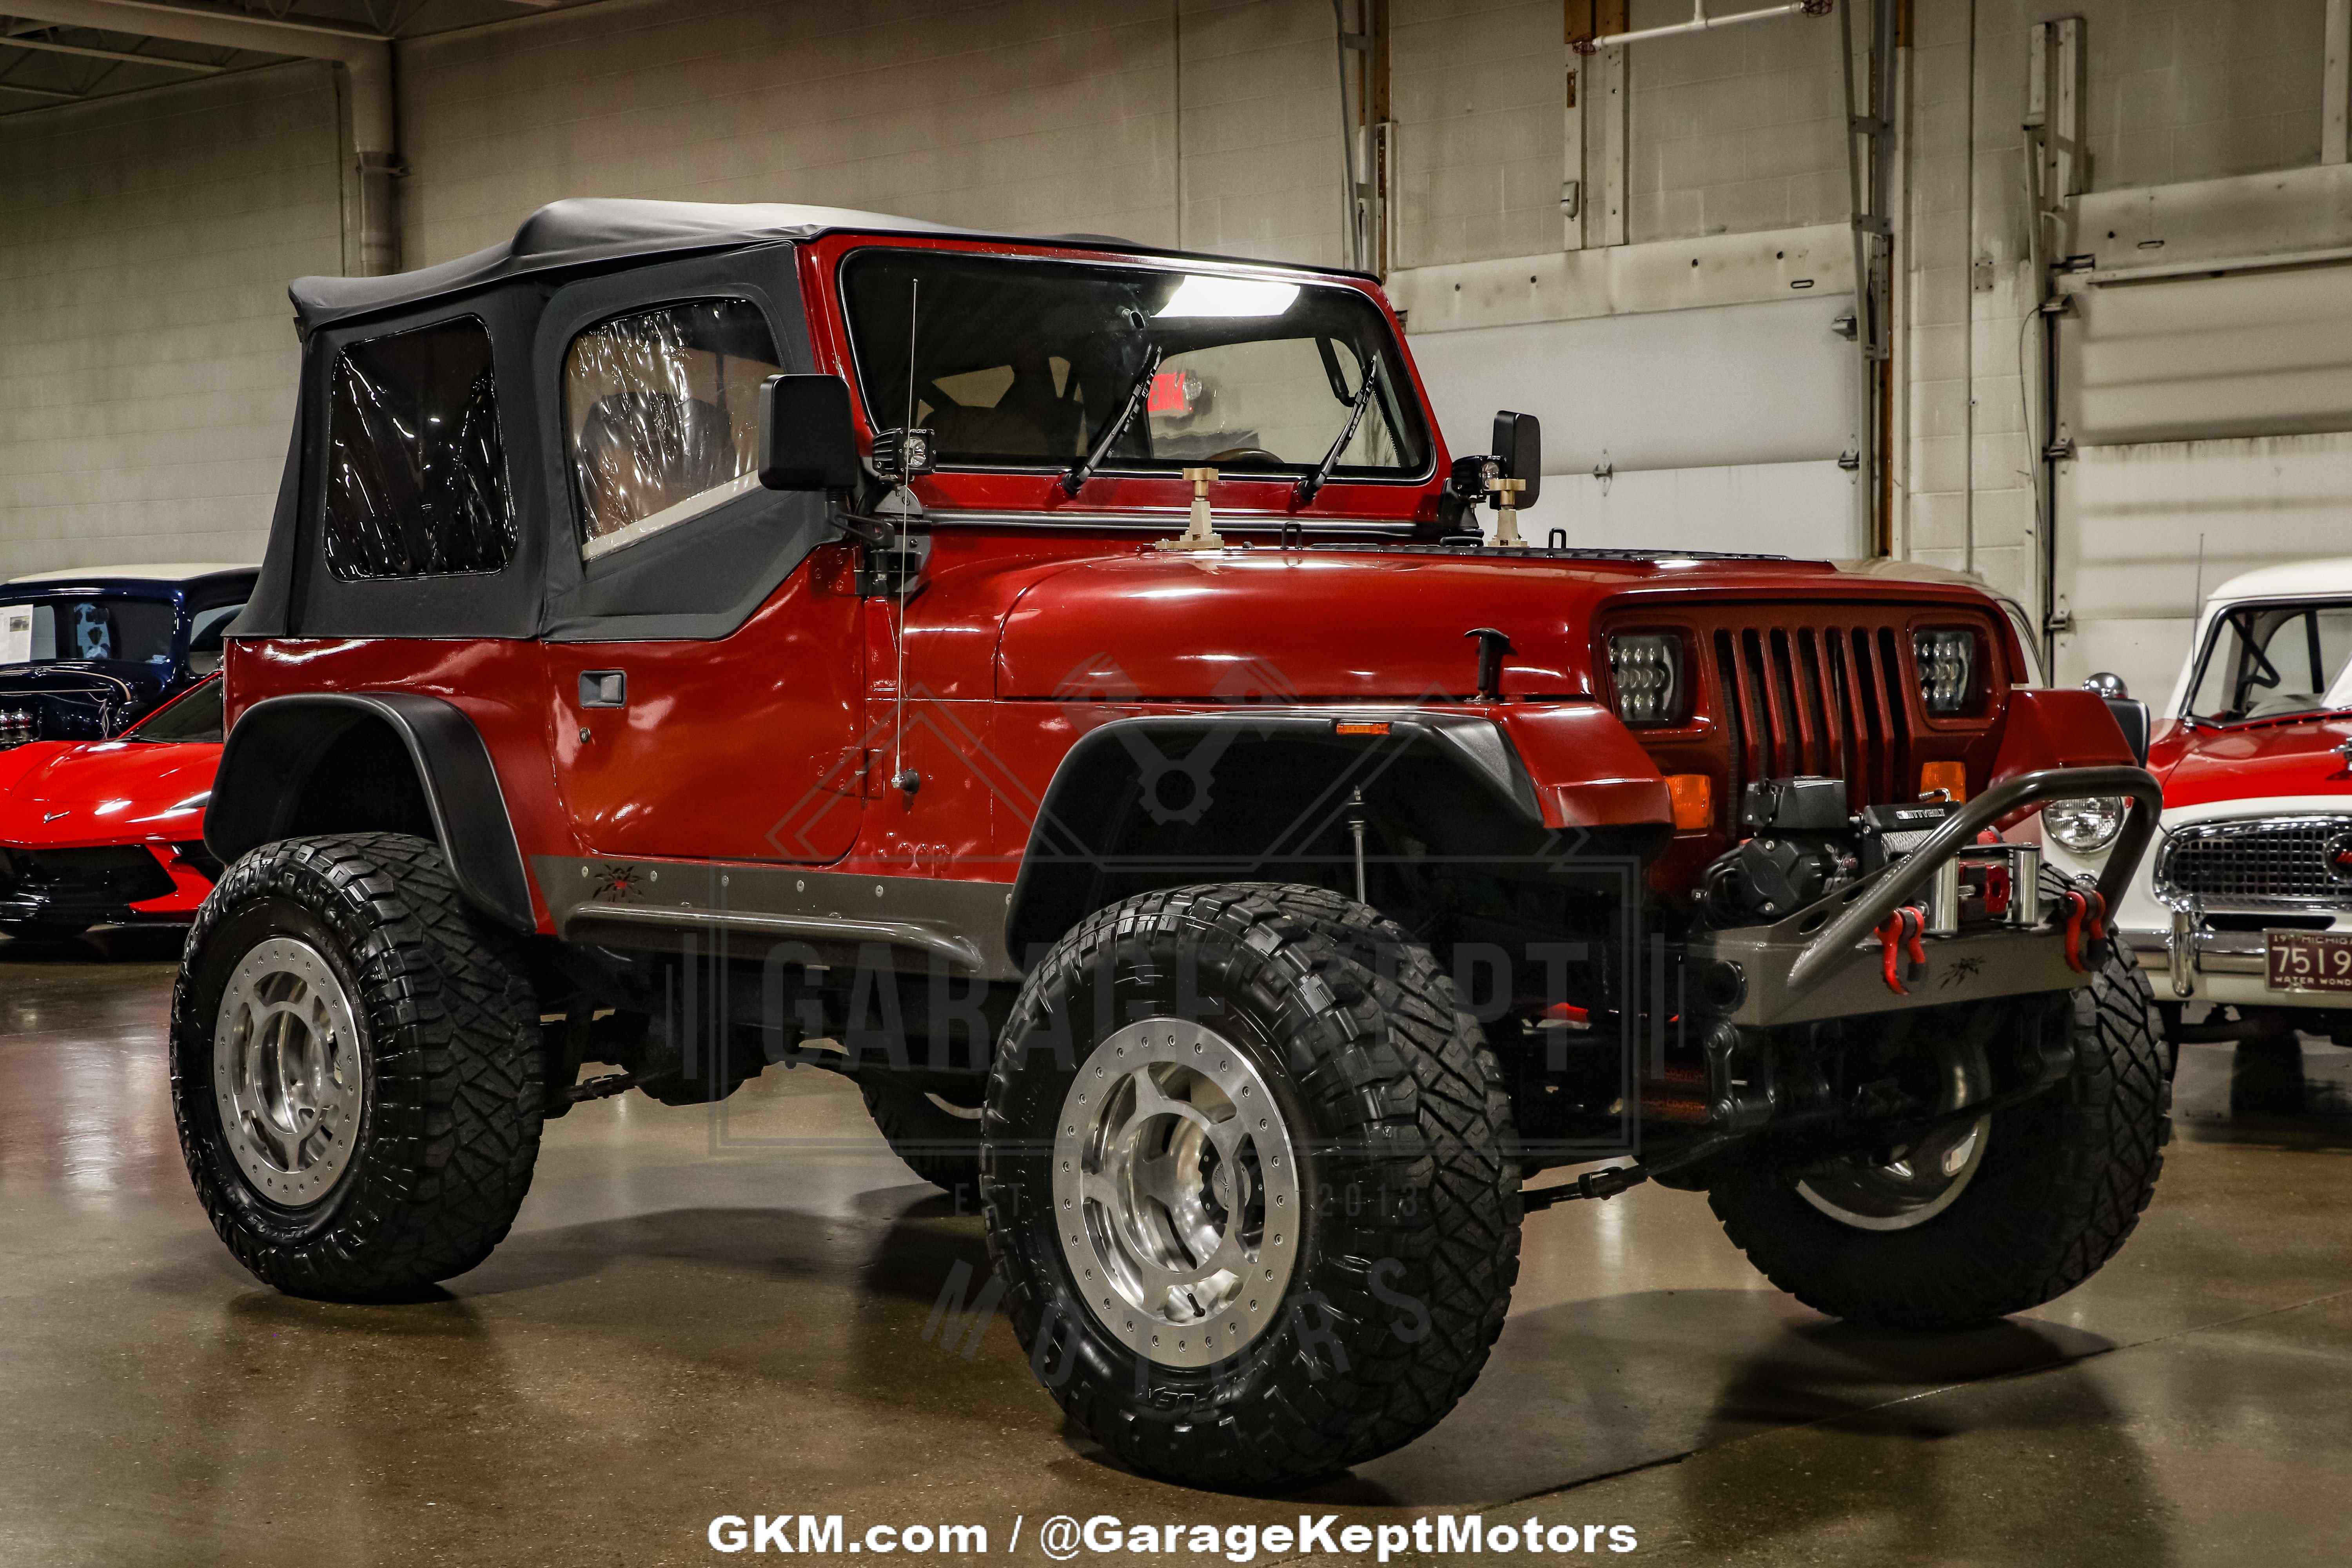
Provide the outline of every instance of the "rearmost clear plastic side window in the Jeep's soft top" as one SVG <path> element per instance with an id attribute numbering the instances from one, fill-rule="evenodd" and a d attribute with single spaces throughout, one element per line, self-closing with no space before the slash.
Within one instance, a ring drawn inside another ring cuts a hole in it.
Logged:
<path id="1" fill-rule="evenodd" d="M 480 320 L 367 339 L 334 362 L 322 536 L 346 581 L 499 571 L 515 557 Z"/>

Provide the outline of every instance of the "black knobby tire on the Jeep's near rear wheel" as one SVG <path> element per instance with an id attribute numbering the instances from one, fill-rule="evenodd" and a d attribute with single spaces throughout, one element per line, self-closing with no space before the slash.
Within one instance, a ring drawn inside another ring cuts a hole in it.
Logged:
<path id="1" fill-rule="evenodd" d="M 336 971 L 367 1044 L 348 1168 L 301 1211 L 256 1192 L 221 1131 L 214 1025 L 240 957 L 294 936 Z M 172 990 L 172 1110 L 212 1227 L 289 1295 L 400 1300 L 506 1239 L 539 1157 L 539 1006 L 513 938 L 435 844 L 358 832 L 263 844 L 198 910 Z"/>

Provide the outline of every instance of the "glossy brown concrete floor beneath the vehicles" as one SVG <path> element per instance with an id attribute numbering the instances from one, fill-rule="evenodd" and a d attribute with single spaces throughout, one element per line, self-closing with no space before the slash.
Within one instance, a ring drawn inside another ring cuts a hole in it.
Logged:
<path id="1" fill-rule="evenodd" d="M 997 1559 L 1021 1516 L 1011 1561 L 1042 1563 L 1054 1514 L 1301 1507 L 1632 1526 L 1609 1561 L 2352 1561 L 2352 1053 L 2307 1058 L 2338 1114 L 2241 1126 L 2227 1048 L 2190 1048 L 2131 1246 L 1959 1340 L 1813 1316 L 1693 1194 L 1538 1215 L 1451 1420 L 1247 1500 L 1108 1467 L 1002 1321 L 971 1354 L 927 1338 L 981 1225 L 814 1070 L 717 1114 L 576 1110 L 447 1300 L 256 1286 L 172 1135 L 169 959 L 0 947 L 0 1563 L 710 1563 L 739 1561 L 713 1516 L 833 1512 L 983 1523 Z"/>

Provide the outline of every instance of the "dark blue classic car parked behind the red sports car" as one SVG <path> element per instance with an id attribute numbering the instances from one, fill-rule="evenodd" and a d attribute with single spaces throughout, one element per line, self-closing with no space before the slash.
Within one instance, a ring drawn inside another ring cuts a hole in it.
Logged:
<path id="1" fill-rule="evenodd" d="M 0 583 L 0 748 L 106 741 L 221 668 L 256 567 L 87 567 Z"/>

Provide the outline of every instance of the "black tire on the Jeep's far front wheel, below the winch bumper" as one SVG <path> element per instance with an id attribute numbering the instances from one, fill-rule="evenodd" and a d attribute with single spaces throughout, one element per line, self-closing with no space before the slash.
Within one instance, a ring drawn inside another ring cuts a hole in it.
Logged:
<path id="1" fill-rule="evenodd" d="M 1856 1229 L 1743 1171 L 1708 1201 L 1776 1286 L 1856 1324 L 1959 1331 L 2065 1295 L 2105 1265 L 2157 1187 L 2173 1086 L 2147 978 L 2100 954 L 2072 999 L 2074 1070 L 1992 1114 L 1985 1159 L 1950 1208 L 1912 1229 Z"/>

